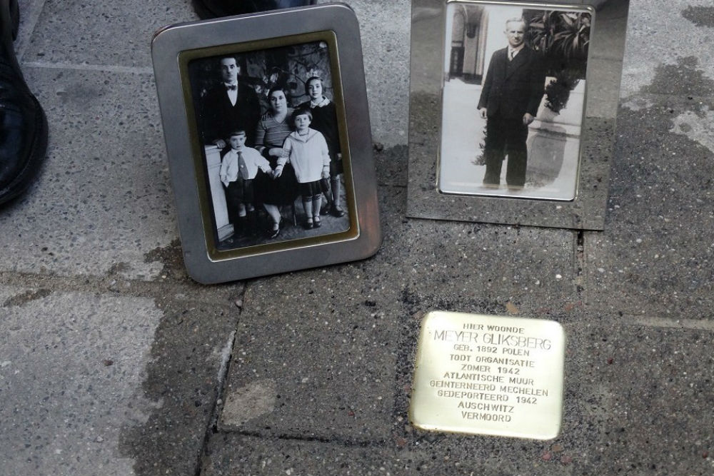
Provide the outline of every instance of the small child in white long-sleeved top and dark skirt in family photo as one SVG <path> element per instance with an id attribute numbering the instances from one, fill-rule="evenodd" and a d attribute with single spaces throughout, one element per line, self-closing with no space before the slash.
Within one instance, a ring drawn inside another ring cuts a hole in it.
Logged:
<path id="1" fill-rule="evenodd" d="M 322 188 L 320 181 L 330 178 L 330 153 L 325 137 L 310 128 L 312 113 L 310 109 L 298 108 L 293 113 L 295 131 L 285 139 L 283 150 L 288 152 L 298 190 L 303 198 L 303 207 L 307 220 L 305 228 L 319 228 Z"/>

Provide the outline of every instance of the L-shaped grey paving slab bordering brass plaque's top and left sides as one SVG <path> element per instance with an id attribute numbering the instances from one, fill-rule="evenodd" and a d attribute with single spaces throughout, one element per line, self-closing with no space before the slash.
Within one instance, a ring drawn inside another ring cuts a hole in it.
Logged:
<path id="1" fill-rule="evenodd" d="M 390 369 L 413 352 L 419 311 L 575 309 L 572 232 L 407 221 L 406 190 L 380 191 L 374 258 L 248 283 L 221 429 L 381 440 L 402 385 Z"/>

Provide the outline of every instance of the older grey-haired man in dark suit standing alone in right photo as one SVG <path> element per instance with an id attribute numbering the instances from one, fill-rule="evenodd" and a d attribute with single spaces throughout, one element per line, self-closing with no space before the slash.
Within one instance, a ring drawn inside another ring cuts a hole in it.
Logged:
<path id="1" fill-rule="evenodd" d="M 508 155 L 506 183 L 509 188 L 521 188 L 526 183 L 528 124 L 543 98 L 545 71 L 538 55 L 526 45 L 525 20 L 506 21 L 505 33 L 508 47 L 491 56 L 478 100 L 478 111 L 487 118 L 483 184 L 499 185 Z"/>

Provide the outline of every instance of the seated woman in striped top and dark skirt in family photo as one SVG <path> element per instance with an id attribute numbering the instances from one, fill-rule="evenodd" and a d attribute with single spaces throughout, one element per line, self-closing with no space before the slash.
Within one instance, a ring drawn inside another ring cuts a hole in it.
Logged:
<path id="1" fill-rule="evenodd" d="M 281 87 L 276 86 L 268 91 L 268 101 L 268 112 L 261 116 L 256 127 L 256 149 L 268 159 L 273 173 L 263 178 L 256 186 L 256 191 L 273 221 L 268 236 L 275 238 L 280 233 L 279 207 L 295 203 L 298 181 L 293 167 L 287 163 L 288 153 L 283 151 L 283 142 L 292 132 L 290 117 L 293 109 L 288 108 L 286 94 Z"/>

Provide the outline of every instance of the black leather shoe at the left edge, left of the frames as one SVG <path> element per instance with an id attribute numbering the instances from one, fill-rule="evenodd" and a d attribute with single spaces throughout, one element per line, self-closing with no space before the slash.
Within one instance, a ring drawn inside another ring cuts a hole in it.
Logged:
<path id="1" fill-rule="evenodd" d="M 0 0 L 0 203 L 32 183 L 47 148 L 47 119 L 12 46 L 19 20 L 17 0 Z"/>

